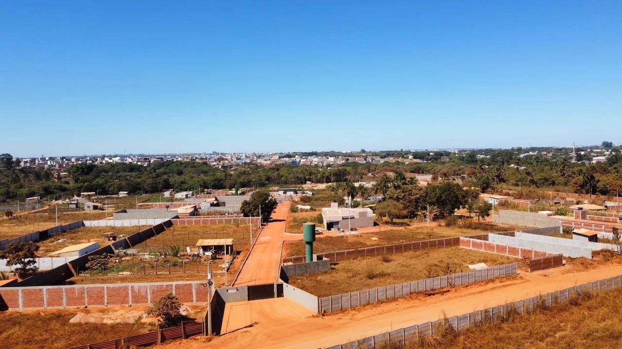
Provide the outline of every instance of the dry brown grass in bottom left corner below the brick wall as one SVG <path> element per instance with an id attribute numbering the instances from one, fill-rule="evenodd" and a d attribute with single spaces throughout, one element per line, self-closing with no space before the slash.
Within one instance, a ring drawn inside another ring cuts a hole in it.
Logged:
<path id="1" fill-rule="evenodd" d="M 64 349 L 155 330 L 147 324 L 70 324 L 72 310 L 0 313 L 0 347 Z"/>

